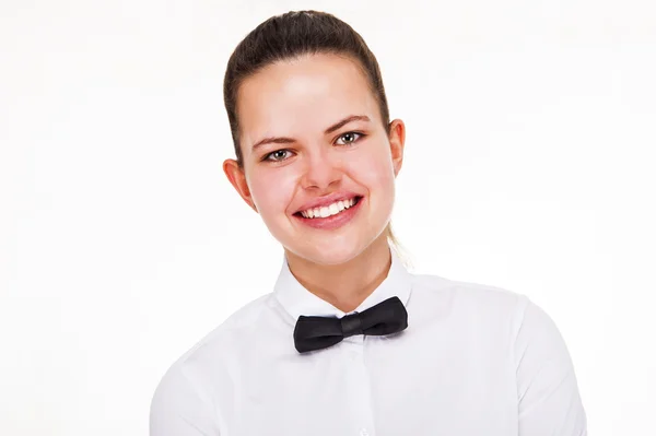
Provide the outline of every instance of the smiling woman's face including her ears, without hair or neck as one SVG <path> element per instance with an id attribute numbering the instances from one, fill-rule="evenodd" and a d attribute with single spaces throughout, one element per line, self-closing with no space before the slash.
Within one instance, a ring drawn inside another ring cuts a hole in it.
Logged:
<path id="1" fill-rule="evenodd" d="M 335 55 L 277 62 L 238 90 L 243 170 L 224 170 L 288 251 L 337 264 L 382 235 L 405 126 L 388 135 L 358 64 Z"/>

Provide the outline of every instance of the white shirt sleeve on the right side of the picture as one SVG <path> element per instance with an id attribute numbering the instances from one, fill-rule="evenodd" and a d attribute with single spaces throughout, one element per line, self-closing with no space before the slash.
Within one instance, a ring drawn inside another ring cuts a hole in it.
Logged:
<path id="1" fill-rule="evenodd" d="M 565 342 L 544 310 L 525 296 L 520 301 L 514 344 L 519 436 L 586 436 L 586 414 Z"/>

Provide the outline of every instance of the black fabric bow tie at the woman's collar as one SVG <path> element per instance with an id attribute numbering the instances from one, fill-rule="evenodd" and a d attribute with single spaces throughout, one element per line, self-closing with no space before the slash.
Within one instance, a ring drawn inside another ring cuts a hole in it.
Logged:
<path id="1" fill-rule="evenodd" d="M 342 318 L 300 316 L 294 329 L 298 353 L 327 349 L 354 334 L 383 335 L 405 330 L 408 313 L 399 297 L 387 298 L 360 314 Z"/>

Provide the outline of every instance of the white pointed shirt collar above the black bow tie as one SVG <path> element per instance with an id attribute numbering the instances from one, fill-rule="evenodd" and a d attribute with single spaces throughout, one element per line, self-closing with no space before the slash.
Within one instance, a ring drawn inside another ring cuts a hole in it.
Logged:
<path id="1" fill-rule="evenodd" d="M 399 297 L 405 306 L 408 304 L 411 291 L 411 274 L 408 272 L 395 250 L 390 249 L 391 266 L 385 280 L 374 290 L 370 296 L 354 311 L 363 311 L 376 304 L 390 298 Z M 319 298 L 307 291 L 289 268 L 286 257 L 283 255 L 282 268 L 276 282 L 273 294 L 285 311 L 292 317 L 294 322 L 301 315 L 324 316 L 341 318 L 348 313 L 341 311 L 330 303 Z M 350 313 L 350 314 L 352 314 Z"/>

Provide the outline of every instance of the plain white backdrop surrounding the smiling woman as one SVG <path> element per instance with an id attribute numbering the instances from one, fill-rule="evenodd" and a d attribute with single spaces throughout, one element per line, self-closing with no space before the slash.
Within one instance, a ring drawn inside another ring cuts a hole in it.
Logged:
<path id="1" fill-rule="evenodd" d="M 407 123 L 413 271 L 528 295 L 590 435 L 656 434 L 653 2 L 2 0 L 0 435 L 145 435 L 173 361 L 271 292 L 222 80 L 301 9 L 362 34 Z"/>

